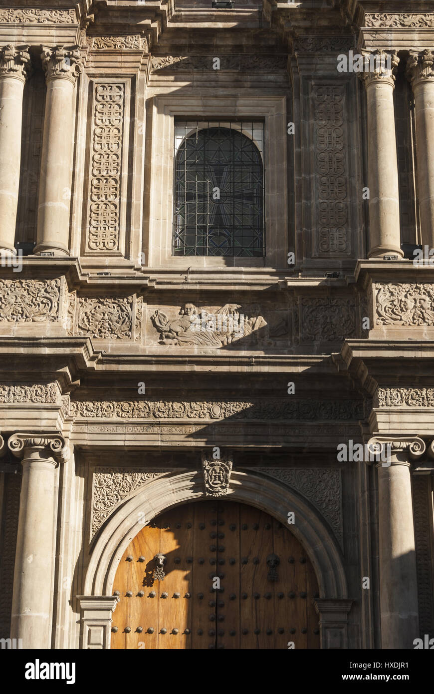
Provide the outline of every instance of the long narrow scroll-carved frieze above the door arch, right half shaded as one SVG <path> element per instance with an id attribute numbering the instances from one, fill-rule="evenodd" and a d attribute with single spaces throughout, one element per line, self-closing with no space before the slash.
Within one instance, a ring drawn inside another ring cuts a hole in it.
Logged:
<path id="1" fill-rule="evenodd" d="M 336 420 L 365 418 L 360 400 L 75 400 L 71 416 L 77 418 L 120 418 L 150 420 L 283 421 Z"/>

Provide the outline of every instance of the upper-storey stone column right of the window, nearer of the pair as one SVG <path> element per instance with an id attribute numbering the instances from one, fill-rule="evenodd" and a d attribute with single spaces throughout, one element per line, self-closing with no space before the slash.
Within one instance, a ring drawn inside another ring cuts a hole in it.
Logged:
<path id="1" fill-rule="evenodd" d="M 403 256 L 399 233 L 397 144 L 394 128 L 395 53 L 374 51 L 365 55 L 360 74 L 367 96 L 367 162 L 370 189 L 370 249 L 368 257 Z M 390 66 L 390 69 L 388 69 Z"/>

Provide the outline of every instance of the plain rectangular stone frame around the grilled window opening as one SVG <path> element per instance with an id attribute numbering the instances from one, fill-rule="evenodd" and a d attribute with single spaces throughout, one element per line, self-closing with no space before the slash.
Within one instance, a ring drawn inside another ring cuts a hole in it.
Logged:
<path id="1" fill-rule="evenodd" d="M 175 120 L 264 122 L 263 257 L 172 255 Z M 288 172 L 286 96 L 153 96 L 148 100 L 145 153 L 145 214 L 142 251 L 148 265 L 171 269 L 286 267 Z"/>

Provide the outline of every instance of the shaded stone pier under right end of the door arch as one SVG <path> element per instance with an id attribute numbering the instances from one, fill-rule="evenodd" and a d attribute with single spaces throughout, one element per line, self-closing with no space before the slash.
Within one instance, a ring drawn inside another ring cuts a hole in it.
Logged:
<path id="1" fill-rule="evenodd" d="M 348 613 L 354 600 L 321 598 L 315 600 L 320 615 L 321 648 L 345 650 L 348 648 Z"/>

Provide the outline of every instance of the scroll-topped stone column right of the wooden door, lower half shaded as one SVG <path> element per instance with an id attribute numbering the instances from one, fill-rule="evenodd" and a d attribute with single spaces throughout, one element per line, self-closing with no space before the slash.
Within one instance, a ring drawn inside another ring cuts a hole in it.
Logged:
<path id="1" fill-rule="evenodd" d="M 381 648 L 414 648 L 419 636 L 417 575 L 410 459 L 425 452 L 418 437 L 370 439 L 388 450 L 379 471 Z M 383 457 L 384 458 L 384 457 Z"/>

